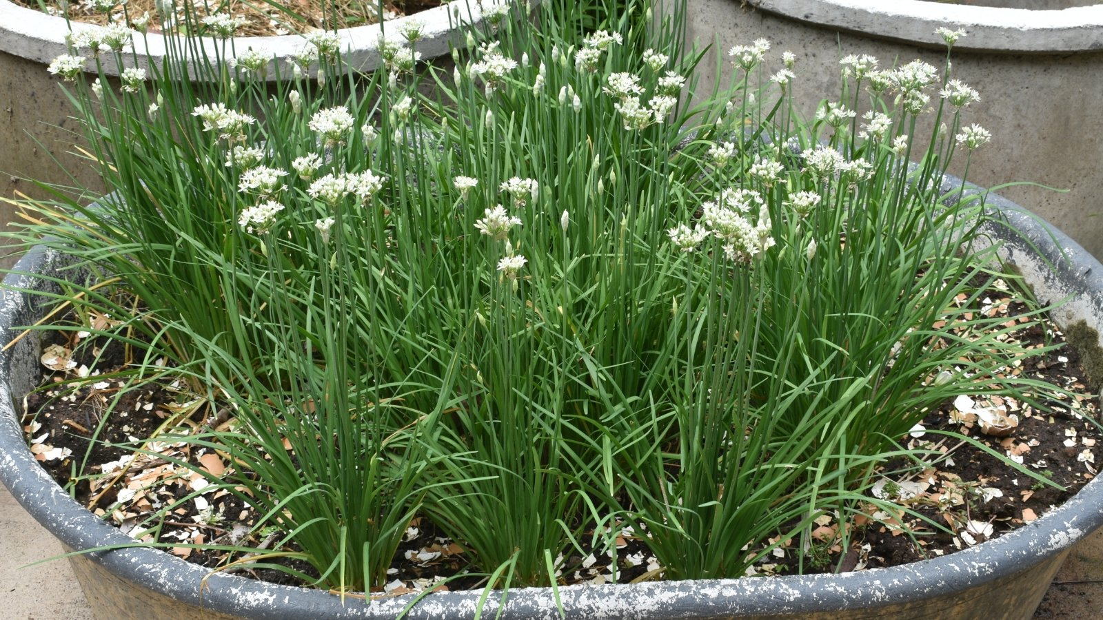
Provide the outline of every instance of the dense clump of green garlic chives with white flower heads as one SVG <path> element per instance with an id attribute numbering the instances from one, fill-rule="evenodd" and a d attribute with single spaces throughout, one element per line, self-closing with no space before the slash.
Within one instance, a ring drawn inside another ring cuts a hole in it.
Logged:
<path id="1" fill-rule="evenodd" d="M 614 522 L 646 528 L 667 578 L 739 576 L 824 515 L 889 507 L 874 468 L 946 398 L 1054 389 L 997 372 L 1039 351 L 997 338 L 1029 322 L 976 312 L 978 279 L 1014 277 L 973 245 L 975 199 L 939 199 L 988 139 L 967 86 L 856 57 L 806 126 L 796 57 L 765 76 L 758 41 L 687 109 L 679 19 L 526 11 L 473 29 L 453 75 L 420 72 L 416 29 L 370 75 L 315 35 L 275 94 L 242 51 L 203 87 L 170 57 L 149 92 L 52 65 L 114 193 L 25 203 L 15 237 L 98 275 L 67 285 L 82 322 L 61 329 L 132 348 L 135 385 L 169 375 L 232 411 L 136 448 L 226 453 L 210 489 L 299 549 L 251 562 L 377 588 L 421 514 L 490 587 L 556 584 L 583 537 L 615 554 Z M 885 114 L 859 120 L 867 97 Z M 922 114 L 946 127 L 914 153 Z"/>

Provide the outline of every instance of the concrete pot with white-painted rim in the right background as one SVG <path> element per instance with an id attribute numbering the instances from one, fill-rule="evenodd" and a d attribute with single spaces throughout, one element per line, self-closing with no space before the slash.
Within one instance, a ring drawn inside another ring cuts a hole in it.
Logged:
<path id="1" fill-rule="evenodd" d="M 806 118 L 839 93 L 838 61 L 871 54 L 881 66 L 923 60 L 941 67 L 945 47 L 934 30 L 964 30 L 953 49 L 953 77 L 975 87 L 982 100 L 965 124 L 993 133 L 970 165 L 970 181 L 999 188 L 1029 205 L 1095 256 L 1103 256 L 1103 2 L 984 0 L 687 0 L 687 38 L 716 51 L 765 38 L 773 43 L 764 75 L 778 55 L 796 54 L 793 86 Z M 1026 9 L 1020 7 L 1040 7 Z M 772 52 L 772 53 L 773 53 Z M 724 62 L 724 78 L 731 67 Z M 698 65 L 700 87 L 716 83 L 715 62 Z M 932 93 L 936 97 L 935 93 Z M 925 131 L 925 129 L 924 129 Z M 920 132 L 922 133 L 922 131 Z M 964 158 L 950 171 L 961 174 Z"/>

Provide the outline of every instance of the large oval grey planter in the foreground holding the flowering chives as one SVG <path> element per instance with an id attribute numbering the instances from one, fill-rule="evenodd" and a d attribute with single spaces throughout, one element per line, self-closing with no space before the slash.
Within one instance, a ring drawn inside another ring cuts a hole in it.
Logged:
<path id="1" fill-rule="evenodd" d="M 946 191 L 960 188 L 947 182 Z M 1020 235 L 993 225 L 1003 239 L 1004 258 L 1019 269 L 1042 300 L 1071 300 L 1053 319 L 1090 359 L 1100 357 L 1103 324 L 1103 265 L 1061 233 L 1025 215 L 1015 204 L 989 196 Z M 1036 252 L 1037 250 L 1037 252 Z M 7 342 L 13 325 L 42 316 L 34 296 L 17 289 L 49 289 L 35 274 L 57 275 L 65 257 L 39 248 L 20 261 L 23 275 L 4 280 L 0 332 Z M 1051 265 L 1052 268 L 1049 266 Z M 24 338 L 0 359 L 0 480 L 12 495 L 66 548 L 88 549 L 132 541 L 74 502 L 39 467 L 23 438 L 18 403 L 39 378 L 40 344 Z M 1103 525 L 1103 481 L 1090 482 L 1073 499 L 1038 521 L 995 541 L 953 555 L 893 568 L 843 575 L 717 579 L 558 590 L 565 618 L 730 619 L 801 618 L 1029 618 L 1069 549 Z M 735 549 L 732 549 L 735 552 Z M 97 618 L 378 618 L 400 614 L 411 595 L 376 601 L 318 590 L 272 586 L 199 566 L 150 548 L 89 553 L 71 558 Z M 438 592 L 413 607 L 420 620 L 474 617 L 479 592 Z M 486 600 L 485 618 L 499 611 L 499 597 Z M 505 620 L 558 618 L 550 588 L 510 594 Z"/>

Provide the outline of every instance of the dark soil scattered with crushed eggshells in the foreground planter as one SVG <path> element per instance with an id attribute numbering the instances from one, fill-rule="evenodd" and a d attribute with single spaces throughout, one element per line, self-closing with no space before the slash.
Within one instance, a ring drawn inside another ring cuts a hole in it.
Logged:
<path id="1" fill-rule="evenodd" d="M 1013 321 L 1029 322 L 1019 318 L 1026 307 L 1002 285 L 997 281 L 994 289 L 986 291 L 981 312 L 1006 316 L 1008 325 Z M 92 320 L 97 329 L 110 321 L 106 317 Z M 189 427 L 226 428 L 232 420 L 225 411 L 219 415 L 199 400 L 189 400 L 186 392 L 172 383 L 124 389 L 124 382 L 107 378 L 111 370 L 127 362 L 121 349 L 116 344 L 105 346 L 99 339 L 87 335 L 84 345 L 77 348 L 75 340 L 81 335 L 73 331 L 50 334 L 42 357 L 47 370 L 45 383 L 24 402 L 24 429 L 31 450 L 54 479 L 71 489 L 83 505 L 138 539 L 151 541 L 159 532 L 160 541 L 170 545 L 233 544 L 257 549 L 280 541 L 282 533 L 271 528 L 250 534 L 257 515 L 247 505 L 225 490 L 212 488 L 203 492 L 208 483 L 202 475 L 164 458 L 188 460 L 222 475 L 227 466 L 216 452 L 159 441 L 146 442 L 146 450 L 137 455 L 119 447 L 141 443 L 143 438 L 157 437 L 165 429 L 179 434 Z M 1080 355 L 1048 322 L 1036 322 L 1008 338 L 1028 348 L 1060 344 L 1027 362 L 1008 364 L 1005 370 L 1057 385 L 1071 396 L 1039 403 L 1039 407 L 979 395 L 962 395 L 943 404 L 901 439 L 913 450 L 914 458 L 880 468 L 871 493 L 881 501 L 864 507 L 867 516 L 839 523 L 825 515 L 817 521 L 812 539 L 803 544 L 795 538 L 773 539 L 771 543 L 778 545 L 747 574 L 859 570 L 951 554 L 1039 519 L 1091 480 L 1096 473 L 1095 451 L 1101 434 L 1096 393 L 1081 378 Z M 105 418 L 108 408 L 114 413 Z M 932 432 L 935 430 L 960 436 Z M 993 457 L 965 437 L 1004 459 Z M 89 450 L 90 438 L 95 441 Z M 1063 490 L 1016 470 L 1008 460 Z M 185 499 L 196 492 L 202 494 Z M 171 507 L 151 522 L 150 515 L 164 506 Z M 560 558 L 560 582 L 661 578 L 662 567 L 649 555 L 642 528 L 625 524 L 618 527 L 622 531 L 617 537 L 615 557 L 591 553 L 585 546 L 581 552 L 570 552 L 569 557 Z M 210 568 L 240 558 L 186 546 L 168 550 Z M 398 595 L 427 588 L 483 587 L 483 576 L 465 575 L 462 552 L 428 520 L 416 519 L 392 563 L 392 580 L 383 589 Z M 742 549 L 746 554 L 760 552 Z M 302 563 L 291 566 L 313 574 Z M 301 584 L 279 570 L 249 569 L 247 565 L 229 570 L 266 581 Z M 447 585 L 442 584 L 449 578 Z"/>

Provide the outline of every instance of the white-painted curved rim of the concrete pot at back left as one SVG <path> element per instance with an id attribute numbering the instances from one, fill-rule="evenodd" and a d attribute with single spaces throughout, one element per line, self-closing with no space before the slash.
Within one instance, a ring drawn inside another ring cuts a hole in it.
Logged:
<path id="1" fill-rule="evenodd" d="M 485 6 L 503 4 L 506 0 L 488 0 Z M 383 23 L 349 28 L 336 31 L 341 40 L 342 60 L 345 65 L 360 71 L 371 71 L 382 64 L 378 53 L 378 39 L 381 33 L 385 33 L 388 41 L 403 41 L 400 29 L 406 24 L 420 22 L 422 24 L 422 39 L 417 42 L 416 50 L 421 53 L 425 60 L 441 56 L 449 53 L 450 44 L 460 44 L 463 41 L 459 30 L 461 23 L 479 23 L 483 14 L 483 4 L 469 0 L 453 0 L 422 11 L 410 17 L 399 18 Z M 47 15 L 34 9 L 19 7 L 10 0 L 0 0 L 0 52 L 28 58 L 31 61 L 49 64 L 53 58 L 68 53 L 65 44 L 65 36 L 69 33 L 72 24 L 74 32 L 82 30 L 95 30 L 100 26 L 81 23 L 66 22 L 63 18 Z M 266 79 L 269 82 L 277 79 L 277 71 L 283 76 L 290 75 L 291 65 L 285 58 L 297 53 L 303 44 L 306 38 L 301 34 L 288 34 L 282 36 L 237 36 L 226 41 L 217 41 L 211 38 L 195 38 L 201 42 L 204 53 L 213 57 L 219 54 L 231 57 L 236 53 L 253 49 L 258 52 L 268 52 L 276 60 L 270 64 Z M 126 66 L 117 66 L 113 54 L 103 55 L 104 72 L 107 75 L 119 75 L 122 68 L 136 66 L 149 68 L 161 65 L 168 52 L 168 43 L 171 38 L 160 34 L 135 33 L 133 53 L 130 50 L 124 52 L 127 61 Z M 194 52 L 189 52 L 190 57 Z M 86 63 L 86 71 L 95 72 L 92 61 Z"/>

